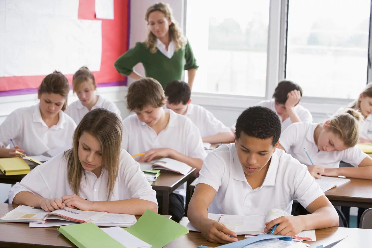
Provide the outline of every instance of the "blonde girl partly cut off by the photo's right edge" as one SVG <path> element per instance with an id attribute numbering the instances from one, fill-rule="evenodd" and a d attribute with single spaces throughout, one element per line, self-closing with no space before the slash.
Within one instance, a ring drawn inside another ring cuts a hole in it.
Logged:
<path id="1" fill-rule="evenodd" d="M 359 134 L 359 143 L 372 143 L 372 83 L 366 85 L 358 99 L 349 105 L 350 108 L 358 110 L 365 118 Z M 337 110 L 337 113 L 344 108 Z"/>

